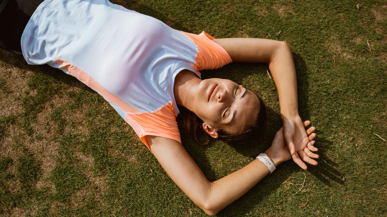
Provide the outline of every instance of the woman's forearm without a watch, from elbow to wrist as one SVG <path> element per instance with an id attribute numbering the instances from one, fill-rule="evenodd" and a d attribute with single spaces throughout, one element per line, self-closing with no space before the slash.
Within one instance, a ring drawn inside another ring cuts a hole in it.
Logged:
<path id="1" fill-rule="evenodd" d="M 268 64 L 277 87 L 282 119 L 298 115 L 297 77 L 290 46 L 282 43 Z"/>

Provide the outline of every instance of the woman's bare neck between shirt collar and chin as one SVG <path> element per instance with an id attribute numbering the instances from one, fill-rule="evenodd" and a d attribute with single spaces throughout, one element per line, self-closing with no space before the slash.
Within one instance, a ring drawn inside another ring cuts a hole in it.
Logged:
<path id="1" fill-rule="evenodd" d="M 194 112 L 194 97 L 201 79 L 192 71 L 183 70 L 176 75 L 173 92 L 178 106 Z"/>

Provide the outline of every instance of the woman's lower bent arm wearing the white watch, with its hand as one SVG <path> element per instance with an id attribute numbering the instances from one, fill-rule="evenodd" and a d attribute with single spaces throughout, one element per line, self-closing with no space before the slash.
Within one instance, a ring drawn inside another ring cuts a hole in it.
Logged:
<path id="1" fill-rule="evenodd" d="M 309 130 L 308 135 L 312 132 Z M 312 134 L 310 139 L 314 139 L 314 136 Z M 254 160 L 211 182 L 179 142 L 156 136 L 147 136 L 146 140 L 171 179 L 208 215 L 215 215 L 236 201 L 270 172 L 264 163 Z M 283 140 L 282 129 L 277 132 L 272 146 L 265 153 L 275 165 L 291 158 Z"/>

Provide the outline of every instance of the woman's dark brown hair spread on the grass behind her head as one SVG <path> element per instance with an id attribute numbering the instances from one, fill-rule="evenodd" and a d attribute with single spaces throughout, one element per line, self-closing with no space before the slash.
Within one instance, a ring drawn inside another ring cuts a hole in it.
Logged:
<path id="1" fill-rule="evenodd" d="M 253 91 L 253 93 L 255 92 Z M 258 139 L 258 134 L 266 121 L 266 107 L 262 99 L 258 95 L 257 97 L 260 109 L 255 117 L 253 125 L 239 133 L 229 133 L 226 130 L 218 129 L 217 133 L 220 140 L 223 140 L 230 145 L 241 145 Z M 184 133 L 192 134 L 194 136 L 194 140 L 200 145 L 208 144 L 210 136 L 203 129 L 203 121 L 196 116 L 194 112 L 184 107 L 179 107 L 179 109 L 180 114 L 177 117 L 177 121 L 179 126 L 183 128 Z"/>

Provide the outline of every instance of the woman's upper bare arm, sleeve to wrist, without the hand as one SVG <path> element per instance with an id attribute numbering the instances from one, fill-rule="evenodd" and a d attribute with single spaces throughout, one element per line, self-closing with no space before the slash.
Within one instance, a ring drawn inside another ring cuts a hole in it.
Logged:
<path id="1" fill-rule="evenodd" d="M 278 90 L 281 115 L 298 115 L 296 69 L 290 46 L 269 39 L 214 39 L 233 61 L 265 62 Z"/>

